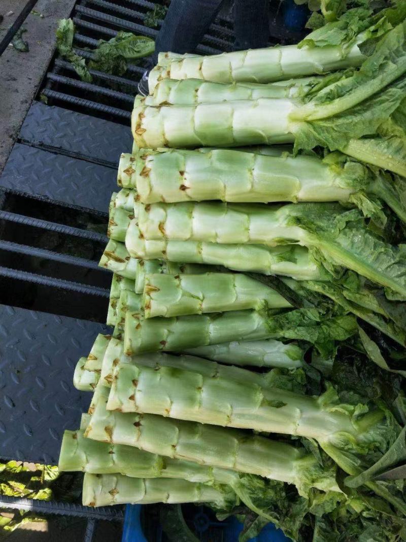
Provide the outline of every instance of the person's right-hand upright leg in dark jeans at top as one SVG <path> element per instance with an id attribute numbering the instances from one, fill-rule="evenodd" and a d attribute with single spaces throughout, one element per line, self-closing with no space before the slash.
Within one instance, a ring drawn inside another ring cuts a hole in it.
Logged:
<path id="1" fill-rule="evenodd" d="M 234 0 L 235 51 L 266 47 L 269 0 Z"/>

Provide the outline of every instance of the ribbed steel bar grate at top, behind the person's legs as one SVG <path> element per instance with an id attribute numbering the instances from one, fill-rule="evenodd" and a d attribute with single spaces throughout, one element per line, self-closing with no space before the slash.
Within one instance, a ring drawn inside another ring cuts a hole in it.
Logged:
<path id="1" fill-rule="evenodd" d="M 73 12 L 77 53 L 90 59 L 91 49 L 97 46 L 97 40 L 108 40 L 119 30 L 155 38 L 162 21 L 158 22 L 157 28 L 146 27 L 144 21 L 147 12 L 159 3 L 145 0 L 81 0 Z M 292 43 L 303 37 L 302 32 L 283 27 L 282 0 L 271 0 L 270 6 L 270 43 Z M 230 17 L 217 18 L 196 52 L 218 54 L 230 51 L 234 40 L 232 24 Z M 93 83 L 84 83 L 78 79 L 69 63 L 56 57 L 45 77 L 41 94 L 47 97 L 50 105 L 128 126 L 137 82 L 145 70 L 144 66 L 145 59 L 140 59 L 137 65 L 130 64 L 123 77 L 91 70 Z"/>

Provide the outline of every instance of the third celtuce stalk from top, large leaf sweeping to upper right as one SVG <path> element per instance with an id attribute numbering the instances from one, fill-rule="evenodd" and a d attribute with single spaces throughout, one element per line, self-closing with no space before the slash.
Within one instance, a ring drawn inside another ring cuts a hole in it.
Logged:
<path id="1" fill-rule="evenodd" d="M 330 84 L 326 81 L 310 96 L 137 105 L 132 117 L 134 138 L 147 149 L 294 141 L 297 149 L 322 145 L 344 150 L 352 139 L 378 133 L 404 99 L 404 35 L 402 22 L 376 42 L 359 70 Z M 387 154 L 390 158 L 391 153 Z"/>

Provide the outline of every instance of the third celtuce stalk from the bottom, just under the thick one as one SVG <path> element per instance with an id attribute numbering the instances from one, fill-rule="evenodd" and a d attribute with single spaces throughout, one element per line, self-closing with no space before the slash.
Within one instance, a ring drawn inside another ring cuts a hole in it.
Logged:
<path id="1" fill-rule="evenodd" d="M 101 387 L 100 389 L 105 388 Z M 331 400 L 331 391 L 326 392 L 325 395 L 328 397 L 325 402 Z M 274 444 L 278 444 L 279 447 L 282 443 L 272 442 L 269 438 L 257 436 L 247 438 L 247 433 L 232 431 L 230 428 L 182 422 L 163 416 L 132 415 L 107 411 L 105 399 L 101 401 L 100 399 L 99 396 L 95 402 L 91 424 L 86 432 L 87 437 L 95 440 L 129 444 L 151 453 L 168 455 L 169 457 L 179 456 L 181 459 L 215 464 L 224 468 L 230 468 L 227 463 L 231 463 L 231 468 L 235 470 L 253 472 L 253 474 L 263 475 L 273 480 L 280 479 L 278 476 L 281 477 L 281 468 L 283 468 L 284 475 L 285 472 L 290 473 L 291 478 L 297 469 L 298 463 L 292 464 L 289 458 L 298 459 L 298 457 L 292 457 L 286 448 L 277 451 Z M 379 412 L 381 411 L 372 412 L 371 415 L 364 416 L 363 420 L 357 421 L 357 430 L 366 431 L 364 446 L 368 446 L 369 443 L 374 448 L 374 431 L 372 430 L 368 434 L 368 429 L 371 425 L 373 429 L 374 424 L 377 439 L 379 442 L 381 441 L 385 427 L 379 425 L 379 420 L 381 420 Z M 348 413 L 350 414 L 350 412 Z M 391 426 L 390 430 L 392 429 Z M 343 451 L 331 442 L 324 441 L 322 446 L 343 470 L 349 474 L 357 475 L 362 472 L 362 468 L 359 467 L 359 457 L 352 460 L 351 445 L 353 441 L 351 438 L 347 440 L 347 437 L 348 435 L 341 433 L 337 441 L 338 446 L 344 446 Z M 346 449 L 346 443 L 350 444 L 350 448 Z M 284 446 L 289 445 L 285 444 Z M 297 449 L 293 448 L 293 450 L 296 454 L 298 453 Z M 357 452 L 357 449 L 355 450 Z M 362 448 L 360 451 L 362 453 Z M 334 472 L 331 469 L 320 468 L 320 464 L 313 455 L 311 455 L 309 463 L 308 457 L 304 458 L 304 464 L 299 466 L 299 472 L 297 472 L 297 478 L 294 482 L 299 493 L 306 495 L 311 487 L 317 487 L 323 491 L 339 491 Z M 280 460 L 281 458 L 283 461 Z M 406 514 L 406 507 L 402 499 L 390 493 L 385 486 L 374 481 L 366 482 L 365 485 L 403 514 Z"/>

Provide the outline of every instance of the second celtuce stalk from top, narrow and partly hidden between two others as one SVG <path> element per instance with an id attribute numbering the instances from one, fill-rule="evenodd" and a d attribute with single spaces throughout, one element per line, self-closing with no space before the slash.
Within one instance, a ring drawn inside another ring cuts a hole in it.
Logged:
<path id="1" fill-rule="evenodd" d="M 306 82 L 308 80 L 305 80 Z M 201 79 L 163 79 L 156 83 L 148 105 L 201 104 L 230 100 L 256 100 L 258 98 L 290 98 L 303 88 L 302 81 L 291 80 L 286 85 L 259 83 L 214 83 Z"/>

